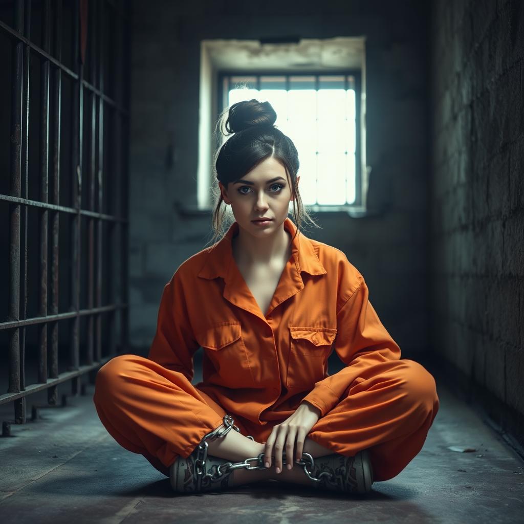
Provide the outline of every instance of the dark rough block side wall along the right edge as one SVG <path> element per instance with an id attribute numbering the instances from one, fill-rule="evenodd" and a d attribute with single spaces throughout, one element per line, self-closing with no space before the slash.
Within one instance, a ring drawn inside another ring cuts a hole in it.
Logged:
<path id="1" fill-rule="evenodd" d="M 524 6 L 438 0 L 431 20 L 431 351 L 522 436 Z"/>

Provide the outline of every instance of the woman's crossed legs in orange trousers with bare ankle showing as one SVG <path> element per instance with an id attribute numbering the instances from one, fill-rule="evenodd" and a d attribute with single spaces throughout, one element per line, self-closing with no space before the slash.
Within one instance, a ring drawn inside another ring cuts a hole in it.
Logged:
<path id="1" fill-rule="evenodd" d="M 439 409 L 433 377 L 411 360 L 381 362 L 360 370 L 346 393 L 313 426 L 303 451 L 316 458 L 353 456 L 368 449 L 375 481 L 394 477 L 421 450 Z M 102 366 L 93 401 L 113 438 L 166 475 L 173 460 L 188 456 L 205 434 L 221 425 L 225 414 L 212 409 L 181 373 L 133 354 Z M 265 447 L 234 430 L 208 445 L 209 454 L 232 462 L 258 456 Z M 269 478 L 311 482 L 296 463 L 280 474 L 270 467 L 236 470 L 235 475 L 244 483 Z"/>

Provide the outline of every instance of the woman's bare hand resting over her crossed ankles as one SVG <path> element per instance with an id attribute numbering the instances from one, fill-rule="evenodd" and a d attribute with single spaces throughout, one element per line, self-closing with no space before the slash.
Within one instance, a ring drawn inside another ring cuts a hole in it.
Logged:
<path id="1" fill-rule="evenodd" d="M 304 441 L 311 428 L 320 418 L 320 410 L 308 401 L 303 401 L 297 410 L 285 421 L 275 425 L 268 436 L 265 447 L 265 465 L 271 467 L 271 456 L 275 447 L 275 467 L 277 473 L 282 471 L 282 451 L 286 450 L 286 462 L 288 470 L 293 467 L 293 447 L 297 440 L 296 460 L 302 458 Z M 291 467 L 290 467 L 291 466 Z"/>

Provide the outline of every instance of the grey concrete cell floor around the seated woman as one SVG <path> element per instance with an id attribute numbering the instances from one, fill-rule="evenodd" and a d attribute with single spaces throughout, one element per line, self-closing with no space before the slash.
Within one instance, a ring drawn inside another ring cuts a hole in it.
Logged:
<path id="1" fill-rule="evenodd" d="M 428 368 L 430 372 L 432 370 Z M 331 372 L 331 369 L 330 369 Z M 0 438 L 0 516 L 4 522 L 210 522 L 352 520 L 367 522 L 524 522 L 524 463 L 476 411 L 434 374 L 440 411 L 421 452 L 367 498 L 277 481 L 230 492 L 179 495 L 169 479 L 119 446 L 98 419 L 92 395 L 40 410 Z M 5 389 L 4 389 L 5 391 Z M 67 386 L 60 394 L 68 393 Z M 12 405 L 0 406 L 2 420 Z M 450 446 L 473 447 L 455 452 Z"/>

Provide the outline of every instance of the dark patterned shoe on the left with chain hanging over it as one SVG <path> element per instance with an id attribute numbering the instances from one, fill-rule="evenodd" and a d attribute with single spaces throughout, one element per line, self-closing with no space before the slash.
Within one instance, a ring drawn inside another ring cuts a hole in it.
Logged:
<path id="1" fill-rule="evenodd" d="M 233 471 L 221 475 L 218 469 L 222 464 L 228 461 L 208 455 L 205 460 L 205 471 L 207 474 L 201 475 L 202 481 L 198 485 L 199 475 L 195 472 L 198 447 L 187 457 L 179 456 L 169 467 L 169 479 L 174 492 L 178 493 L 200 493 L 213 490 L 222 490 L 233 485 Z M 220 477 L 214 479 L 213 477 Z"/>

